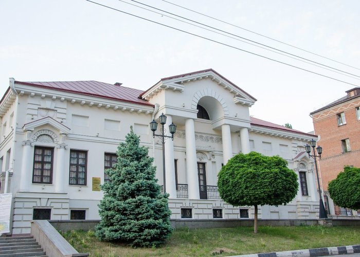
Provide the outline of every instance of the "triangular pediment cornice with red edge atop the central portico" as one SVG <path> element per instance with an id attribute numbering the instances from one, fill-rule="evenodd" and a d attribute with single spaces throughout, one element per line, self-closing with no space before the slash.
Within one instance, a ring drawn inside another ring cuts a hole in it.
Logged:
<path id="1" fill-rule="evenodd" d="M 200 80 L 212 81 L 213 83 L 218 84 L 219 87 L 228 90 L 229 94 L 233 95 L 233 101 L 235 103 L 251 106 L 257 101 L 256 98 L 246 93 L 243 89 L 233 84 L 231 81 L 221 76 L 213 69 L 195 71 L 188 74 L 163 78 L 153 87 L 142 93 L 141 97 L 143 99 L 149 100 L 153 96 L 160 93 L 162 90 L 179 90 L 183 92 L 188 83 Z"/>

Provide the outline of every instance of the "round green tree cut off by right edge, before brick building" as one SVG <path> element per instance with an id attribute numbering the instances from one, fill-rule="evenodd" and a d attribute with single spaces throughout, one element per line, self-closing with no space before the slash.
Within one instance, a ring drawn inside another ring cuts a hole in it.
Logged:
<path id="1" fill-rule="evenodd" d="M 344 171 L 329 182 L 328 191 L 337 206 L 359 210 L 360 169 L 349 166 L 344 167 Z"/>

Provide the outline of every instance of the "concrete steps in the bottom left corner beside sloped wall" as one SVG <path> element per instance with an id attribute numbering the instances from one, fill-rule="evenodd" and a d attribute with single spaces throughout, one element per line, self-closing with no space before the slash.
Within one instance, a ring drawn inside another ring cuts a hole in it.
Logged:
<path id="1" fill-rule="evenodd" d="M 33 236 L 0 237 L 0 257 L 47 257 Z"/>

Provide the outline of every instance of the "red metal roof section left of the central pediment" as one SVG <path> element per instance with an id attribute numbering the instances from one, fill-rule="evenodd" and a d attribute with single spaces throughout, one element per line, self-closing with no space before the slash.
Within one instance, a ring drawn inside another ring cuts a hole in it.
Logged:
<path id="1" fill-rule="evenodd" d="M 138 98 L 142 93 L 142 90 L 119 85 L 112 85 L 94 80 L 57 82 L 15 81 L 15 83 L 153 106 L 153 104 L 149 103 L 148 101 Z"/>

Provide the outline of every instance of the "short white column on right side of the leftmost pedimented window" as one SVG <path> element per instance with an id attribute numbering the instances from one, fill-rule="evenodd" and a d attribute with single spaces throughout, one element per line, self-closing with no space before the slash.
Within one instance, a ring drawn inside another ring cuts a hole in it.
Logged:
<path id="1" fill-rule="evenodd" d="M 55 173 L 55 191 L 58 193 L 64 192 L 65 179 L 68 178 L 68 171 L 65 171 L 65 144 L 57 145 L 56 155 L 56 173 Z"/>

